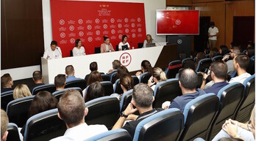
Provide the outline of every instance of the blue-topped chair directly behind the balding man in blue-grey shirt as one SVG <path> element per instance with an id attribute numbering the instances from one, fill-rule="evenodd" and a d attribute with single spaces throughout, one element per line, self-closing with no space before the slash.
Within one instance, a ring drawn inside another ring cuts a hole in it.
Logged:
<path id="1" fill-rule="evenodd" d="M 204 94 L 185 105 L 183 115 L 185 127 L 179 140 L 205 140 L 210 132 L 213 119 L 218 113 L 219 99 L 216 94 Z"/>

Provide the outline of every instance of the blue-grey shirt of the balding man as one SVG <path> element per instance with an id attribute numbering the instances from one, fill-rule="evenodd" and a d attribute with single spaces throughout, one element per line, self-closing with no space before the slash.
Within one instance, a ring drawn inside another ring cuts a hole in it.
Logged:
<path id="1" fill-rule="evenodd" d="M 182 96 L 177 96 L 174 100 L 172 100 L 169 108 L 176 107 L 183 113 L 183 110 L 188 102 L 190 102 L 193 99 L 196 99 L 197 96 L 201 96 L 203 94 L 205 94 L 205 91 L 198 88 L 196 89 L 196 93 L 183 94 Z"/>

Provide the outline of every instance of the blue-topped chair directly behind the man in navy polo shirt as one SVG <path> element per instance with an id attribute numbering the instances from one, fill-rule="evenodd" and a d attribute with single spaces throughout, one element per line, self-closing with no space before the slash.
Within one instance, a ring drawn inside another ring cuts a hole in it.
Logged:
<path id="1" fill-rule="evenodd" d="M 234 119 L 235 111 L 238 110 L 238 105 L 243 99 L 243 91 L 243 84 L 238 82 L 226 85 L 218 91 L 217 96 L 220 101 L 220 107 L 216 118 L 213 120 L 208 140 L 212 140 L 221 131 L 221 126 L 226 120 L 229 118 Z"/>

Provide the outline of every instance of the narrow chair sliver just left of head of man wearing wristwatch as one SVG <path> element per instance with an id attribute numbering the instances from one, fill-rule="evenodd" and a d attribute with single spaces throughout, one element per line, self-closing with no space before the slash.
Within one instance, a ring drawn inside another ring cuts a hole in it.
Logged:
<path id="1" fill-rule="evenodd" d="M 120 99 L 120 113 L 123 112 L 132 101 L 132 90 L 125 92 Z"/>

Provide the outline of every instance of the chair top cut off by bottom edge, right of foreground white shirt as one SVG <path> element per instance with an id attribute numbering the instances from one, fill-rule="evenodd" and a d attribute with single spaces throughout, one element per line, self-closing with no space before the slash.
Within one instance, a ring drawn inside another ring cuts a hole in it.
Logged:
<path id="1" fill-rule="evenodd" d="M 132 141 L 132 137 L 125 129 L 115 129 L 102 134 L 97 134 L 96 136 L 90 137 L 85 141 Z"/>

